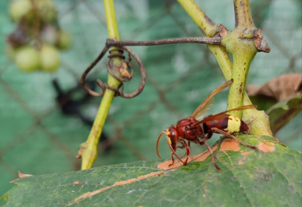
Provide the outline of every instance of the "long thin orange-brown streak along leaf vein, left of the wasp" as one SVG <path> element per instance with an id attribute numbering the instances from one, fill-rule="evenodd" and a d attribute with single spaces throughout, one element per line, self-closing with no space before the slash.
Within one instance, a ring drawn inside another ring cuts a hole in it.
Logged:
<path id="1" fill-rule="evenodd" d="M 100 192 L 108 190 L 108 189 L 110 189 L 110 188 L 112 188 L 114 186 L 121 186 L 121 185 L 129 184 L 129 183 L 136 182 L 136 181 L 139 181 L 141 179 L 149 178 L 149 177 L 152 177 L 152 176 L 156 176 L 156 175 L 159 175 L 159 174 L 162 174 L 162 173 L 164 173 L 164 171 L 152 172 L 152 173 L 149 173 L 149 174 L 146 174 L 146 175 L 143 175 L 143 176 L 139 176 L 138 178 L 131 178 L 131 179 L 128 179 L 128 180 L 115 182 L 112 186 L 107 186 L 107 187 L 104 187 L 104 188 L 101 188 L 101 189 L 98 189 L 98 190 L 95 190 L 95 191 L 92 191 L 92 192 L 84 193 L 83 195 L 80 195 L 76 199 L 72 200 L 72 202 L 70 204 L 78 202 L 78 201 L 80 201 L 82 199 L 86 199 L 86 198 L 92 197 L 93 195 L 96 195 L 96 194 L 98 194 Z M 76 181 L 76 182 L 79 182 L 79 181 Z M 74 182 L 74 184 L 76 182 Z"/>

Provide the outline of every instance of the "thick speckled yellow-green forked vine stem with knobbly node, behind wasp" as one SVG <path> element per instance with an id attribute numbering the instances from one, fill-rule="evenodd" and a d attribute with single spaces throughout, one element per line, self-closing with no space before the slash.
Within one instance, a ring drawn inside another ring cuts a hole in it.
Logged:
<path id="1" fill-rule="evenodd" d="M 228 98 L 227 108 L 230 109 L 236 108 L 237 106 L 250 105 L 251 101 L 245 93 L 245 84 L 249 65 L 257 51 L 269 52 L 270 49 L 266 42 L 262 40 L 263 36 L 261 35 L 260 30 L 255 28 L 253 24 L 249 1 L 234 0 L 236 25 L 234 31 L 230 33 L 225 27 L 223 27 L 223 25 L 215 24 L 210 20 L 194 0 L 177 1 L 192 18 L 204 36 L 214 37 L 219 35 L 223 37 L 222 44 L 224 44 L 225 47 L 207 44 L 207 48 L 216 58 L 226 80 L 230 80 L 231 78 L 234 79 L 235 84 L 232 84 L 232 89 L 230 88 L 229 94 L 232 95 Z M 228 43 L 229 40 L 235 45 Z M 233 64 L 228 52 L 233 54 Z M 244 121 L 249 123 L 250 134 L 273 136 L 269 126 L 268 116 L 264 111 L 249 109 L 243 110 L 238 114 L 235 112 L 232 115 L 241 117 Z"/>

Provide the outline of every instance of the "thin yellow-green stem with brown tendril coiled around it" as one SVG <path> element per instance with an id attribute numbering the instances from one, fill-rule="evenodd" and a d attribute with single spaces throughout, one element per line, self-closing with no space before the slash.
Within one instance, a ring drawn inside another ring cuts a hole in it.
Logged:
<path id="1" fill-rule="evenodd" d="M 109 32 L 109 38 L 119 40 L 119 34 L 117 29 L 117 21 L 115 17 L 114 11 L 114 3 L 113 0 L 104 0 L 104 7 L 107 18 L 107 26 Z M 116 53 L 117 51 L 112 51 L 111 54 Z M 120 57 L 113 57 L 113 66 L 117 67 L 121 63 Z M 110 74 L 108 74 L 108 85 L 118 88 L 121 82 L 116 80 Z M 85 143 L 80 145 L 80 150 L 78 152 L 77 157 L 82 157 L 82 167 L 81 169 L 92 168 L 93 163 L 97 157 L 97 145 L 99 142 L 99 138 L 102 133 L 102 129 L 104 127 L 105 120 L 107 118 L 111 102 L 114 98 L 115 92 L 113 90 L 106 89 L 103 99 L 101 101 L 100 107 L 98 109 L 97 116 L 95 117 L 95 121 L 93 123 L 92 129 L 88 136 L 88 139 Z"/>

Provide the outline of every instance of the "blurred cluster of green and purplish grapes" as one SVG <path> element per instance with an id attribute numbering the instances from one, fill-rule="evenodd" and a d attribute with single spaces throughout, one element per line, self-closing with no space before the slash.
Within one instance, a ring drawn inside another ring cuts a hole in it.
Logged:
<path id="1" fill-rule="evenodd" d="M 72 42 L 69 33 L 59 27 L 52 0 L 12 1 L 9 12 L 17 28 L 8 35 L 6 53 L 20 70 L 58 69 L 58 49 L 68 49 Z"/>

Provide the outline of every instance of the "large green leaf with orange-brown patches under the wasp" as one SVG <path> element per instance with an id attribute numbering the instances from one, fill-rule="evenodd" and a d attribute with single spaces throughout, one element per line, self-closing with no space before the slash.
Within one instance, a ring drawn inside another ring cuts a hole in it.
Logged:
<path id="1" fill-rule="evenodd" d="M 300 206 L 301 153 L 268 136 L 239 138 L 259 150 L 218 140 L 221 172 L 202 153 L 187 166 L 153 160 L 24 177 L 2 199 L 4 206 Z"/>

